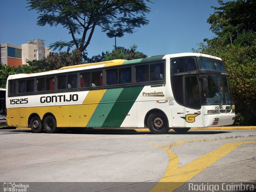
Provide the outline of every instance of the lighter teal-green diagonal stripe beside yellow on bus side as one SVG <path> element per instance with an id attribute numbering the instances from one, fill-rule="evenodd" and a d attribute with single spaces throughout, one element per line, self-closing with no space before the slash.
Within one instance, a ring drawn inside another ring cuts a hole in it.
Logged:
<path id="1" fill-rule="evenodd" d="M 114 106 L 118 96 L 124 88 L 108 89 L 95 109 L 87 127 L 101 127 L 110 110 Z"/>

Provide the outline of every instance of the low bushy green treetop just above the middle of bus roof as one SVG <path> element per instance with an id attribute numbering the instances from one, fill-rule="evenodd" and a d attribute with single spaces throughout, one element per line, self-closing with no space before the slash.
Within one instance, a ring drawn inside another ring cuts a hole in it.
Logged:
<path id="1" fill-rule="evenodd" d="M 105 61 L 114 60 L 114 59 L 125 59 L 125 60 L 133 60 L 133 59 L 141 59 L 146 58 L 147 56 L 142 53 L 136 51 L 137 46 L 130 46 L 130 49 L 126 49 L 124 47 L 117 47 L 113 49 L 112 52 L 106 53 Z"/>

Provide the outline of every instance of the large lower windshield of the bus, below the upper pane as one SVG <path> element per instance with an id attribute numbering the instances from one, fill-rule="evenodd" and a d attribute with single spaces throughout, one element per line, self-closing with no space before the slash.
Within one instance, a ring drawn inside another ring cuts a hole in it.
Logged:
<path id="1" fill-rule="evenodd" d="M 208 75 L 208 90 L 203 94 L 205 105 L 234 104 L 227 76 Z"/>

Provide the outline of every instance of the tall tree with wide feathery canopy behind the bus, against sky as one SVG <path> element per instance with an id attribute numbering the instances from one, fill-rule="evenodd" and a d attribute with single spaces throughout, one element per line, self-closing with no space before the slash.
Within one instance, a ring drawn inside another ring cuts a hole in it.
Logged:
<path id="1" fill-rule="evenodd" d="M 150 0 L 27 0 L 29 10 L 37 10 L 39 26 L 62 25 L 72 40 L 50 45 L 53 50 L 73 46 L 83 52 L 90 43 L 96 26 L 103 32 L 134 33 L 134 28 L 149 23 L 145 14 L 150 12 L 145 2 Z"/>

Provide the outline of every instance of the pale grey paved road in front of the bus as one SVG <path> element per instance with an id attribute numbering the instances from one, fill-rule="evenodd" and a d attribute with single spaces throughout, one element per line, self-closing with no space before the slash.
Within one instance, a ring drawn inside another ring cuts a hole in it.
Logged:
<path id="1" fill-rule="evenodd" d="M 44 182 L 29 183 L 28 192 L 196 191 L 202 183 L 241 183 L 255 191 L 256 129 L 164 135 L 145 130 L 34 134 L 1 129 L 0 182 Z"/>

